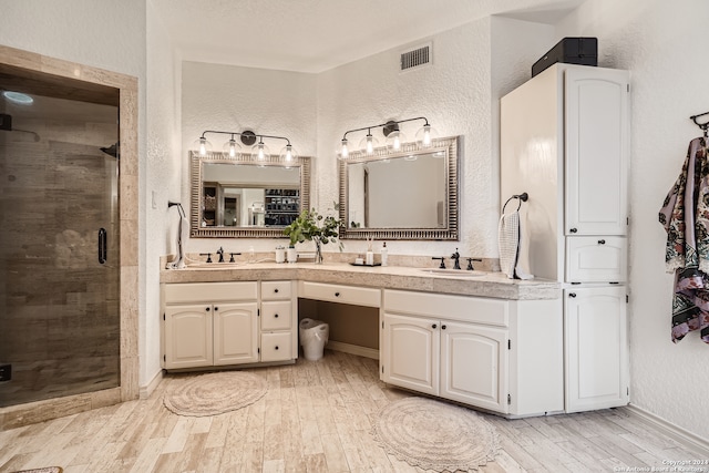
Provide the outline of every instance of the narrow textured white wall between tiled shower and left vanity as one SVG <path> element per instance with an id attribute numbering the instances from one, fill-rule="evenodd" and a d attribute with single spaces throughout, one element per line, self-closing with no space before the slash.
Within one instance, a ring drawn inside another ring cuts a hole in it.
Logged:
<path id="1" fill-rule="evenodd" d="M 179 143 L 181 61 L 175 56 L 169 35 L 160 12 L 147 3 L 147 150 L 145 161 L 145 317 L 141 318 L 141 387 L 147 385 L 161 371 L 160 360 L 160 257 L 175 254 L 168 235 L 176 232 L 177 207 L 168 210 L 167 202 L 179 202 L 182 154 Z M 155 204 L 155 205 L 153 205 Z M 184 205 L 183 205 L 184 206 Z M 185 210 L 188 210 L 188 206 Z"/>

